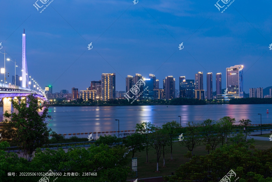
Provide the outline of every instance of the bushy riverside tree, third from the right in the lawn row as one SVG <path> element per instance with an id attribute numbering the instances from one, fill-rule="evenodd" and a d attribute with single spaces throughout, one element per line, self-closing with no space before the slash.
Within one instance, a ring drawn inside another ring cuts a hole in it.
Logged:
<path id="1" fill-rule="evenodd" d="M 219 134 L 214 120 L 206 119 L 200 123 L 199 131 L 202 133 L 202 143 L 209 145 L 207 148 L 208 154 L 210 150 L 214 151 L 215 147 L 220 143 Z M 210 150 L 209 150 L 210 148 Z"/>

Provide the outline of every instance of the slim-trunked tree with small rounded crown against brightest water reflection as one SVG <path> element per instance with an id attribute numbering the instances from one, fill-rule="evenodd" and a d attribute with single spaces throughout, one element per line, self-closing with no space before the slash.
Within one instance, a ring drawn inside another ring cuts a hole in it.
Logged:
<path id="1" fill-rule="evenodd" d="M 149 134 L 155 130 L 155 125 L 151 122 L 142 122 L 140 124 L 136 124 L 134 127 L 136 128 L 136 132 L 144 135 L 144 142 L 146 147 L 146 163 L 148 163 L 148 146 L 150 145 Z"/>

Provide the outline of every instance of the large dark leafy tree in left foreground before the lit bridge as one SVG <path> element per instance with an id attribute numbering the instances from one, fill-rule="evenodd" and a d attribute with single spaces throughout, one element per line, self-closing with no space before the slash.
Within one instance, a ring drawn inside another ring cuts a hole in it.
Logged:
<path id="1" fill-rule="evenodd" d="M 50 117 L 48 107 L 40 106 L 38 99 L 34 95 L 28 95 L 24 99 L 12 99 L 11 104 L 17 112 L 11 114 L 5 111 L 4 125 L 12 126 L 16 131 L 18 147 L 23 151 L 23 156 L 31 160 L 36 148 L 47 144 L 51 128 L 47 128 L 45 119 Z M 39 114 L 40 111 L 43 111 Z M 8 120 L 9 118 L 10 120 Z"/>

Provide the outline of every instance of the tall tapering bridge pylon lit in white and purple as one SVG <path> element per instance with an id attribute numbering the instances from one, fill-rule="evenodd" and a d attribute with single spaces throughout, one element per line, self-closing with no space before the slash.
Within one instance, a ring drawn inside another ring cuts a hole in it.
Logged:
<path id="1" fill-rule="evenodd" d="M 25 57 L 25 48 L 26 48 L 25 34 L 23 33 L 22 87 L 23 88 L 30 88 L 30 85 L 28 84 L 28 65 L 27 65 L 26 57 Z"/>

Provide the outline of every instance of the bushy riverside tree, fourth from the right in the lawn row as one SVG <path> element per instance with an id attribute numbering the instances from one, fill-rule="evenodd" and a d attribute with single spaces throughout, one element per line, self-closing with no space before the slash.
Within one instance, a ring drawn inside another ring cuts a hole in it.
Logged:
<path id="1" fill-rule="evenodd" d="M 193 155 L 193 149 L 198 146 L 201 142 L 199 138 L 199 128 L 198 124 L 188 122 L 186 127 L 186 133 L 184 134 L 184 140 L 180 141 L 180 145 L 183 145 L 188 148 Z"/>

